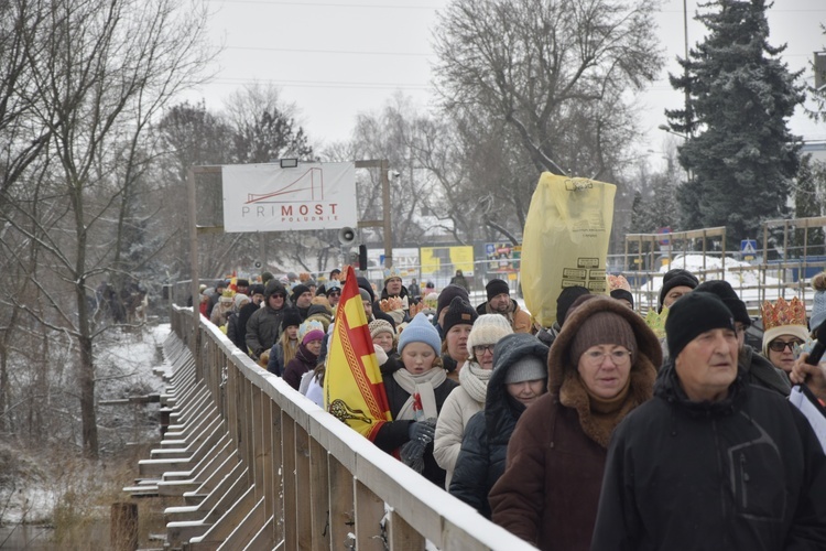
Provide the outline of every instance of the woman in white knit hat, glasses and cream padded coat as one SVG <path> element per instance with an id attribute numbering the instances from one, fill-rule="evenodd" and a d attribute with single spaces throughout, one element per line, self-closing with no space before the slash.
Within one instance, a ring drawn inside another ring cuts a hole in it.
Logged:
<path id="1" fill-rule="evenodd" d="M 459 371 L 459 387 L 445 400 L 436 422 L 433 456 L 447 472 L 445 489 L 450 487 L 465 428 L 475 413 L 485 408 L 488 380 L 493 374 L 493 346 L 513 333 L 508 318 L 500 314 L 480 315 L 467 337 L 468 359 Z"/>

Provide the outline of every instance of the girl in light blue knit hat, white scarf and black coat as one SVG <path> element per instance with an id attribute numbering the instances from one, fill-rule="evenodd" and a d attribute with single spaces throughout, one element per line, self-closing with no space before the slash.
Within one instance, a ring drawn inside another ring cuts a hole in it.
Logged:
<path id="1" fill-rule="evenodd" d="M 442 406 L 457 385 L 442 368 L 441 344 L 436 327 L 422 313 L 399 335 L 401 359 L 382 366 L 393 421 L 381 425 L 374 443 L 388 453 L 398 451 L 407 466 L 444 488 L 445 471 L 433 457 L 433 436 Z"/>

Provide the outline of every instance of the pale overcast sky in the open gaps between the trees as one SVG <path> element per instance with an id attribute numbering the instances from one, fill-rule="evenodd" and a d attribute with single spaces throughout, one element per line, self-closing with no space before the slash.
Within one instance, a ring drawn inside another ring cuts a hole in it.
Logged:
<path id="1" fill-rule="evenodd" d="M 432 105 L 432 29 L 448 0 L 213 0 L 210 33 L 225 45 L 216 61 L 216 78 L 195 90 L 207 108 L 220 109 L 227 96 L 244 84 L 272 83 L 286 101 L 296 104 L 300 119 L 318 147 L 347 140 L 359 112 L 380 110 L 401 90 L 426 108 Z M 688 41 L 702 39 L 693 20 L 697 0 L 687 0 Z M 683 96 L 667 82 L 683 55 L 683 0 L 666 0 L 657 15 L 659 36 L 669 65 L 641 98 L 646 141 L 641 152 L 662 151 L 669 138 L 656 127 L 663 109 Z M 826 22 L 826 0 L 776 0 L 769 11 L 772 45 L 787 43 L 784 58 L 792 69 L 808 66 L 812 53 L 826 47 L 819 24 Z M 805 78 L 812 79 L 806 68 Z M 792 131 L 806 140 L 825 140 L 826 126 L 802 115 Z M 651 153 L 652 160 L 659 153 Z"/>

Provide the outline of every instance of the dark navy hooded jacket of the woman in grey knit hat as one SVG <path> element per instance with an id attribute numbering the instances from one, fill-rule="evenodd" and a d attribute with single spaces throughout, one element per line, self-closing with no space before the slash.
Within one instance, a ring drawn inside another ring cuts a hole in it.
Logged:
<path id="1" fill-rule="evenodd" d="M 450 494 L 490 518 L 488 494 L 504 473 L 508 441 L 525 407 L 508 393 L 508 371 L 518 360 L 536 356 L 547 360 L 547 346 L 534 337 L 509 336 L 493 358 L 493 375 L 488 382 L 485 410 L 474 414 L 465 428 L 459 457 L 450 479 Z"/>

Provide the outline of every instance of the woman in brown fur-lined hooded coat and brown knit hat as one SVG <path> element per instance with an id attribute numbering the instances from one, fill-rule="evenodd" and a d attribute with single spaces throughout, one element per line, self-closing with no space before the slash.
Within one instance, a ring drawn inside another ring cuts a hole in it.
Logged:
<path id="1" fill-rule="evenodd" d="M 548 392 L 508 444 L 493 521 L 540 549 L 588 550 L 611 432 L 652 397 L 661 363 L 642 317 L 608 296 L 578 299 L 551 346 Z"/>

